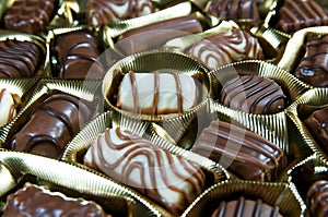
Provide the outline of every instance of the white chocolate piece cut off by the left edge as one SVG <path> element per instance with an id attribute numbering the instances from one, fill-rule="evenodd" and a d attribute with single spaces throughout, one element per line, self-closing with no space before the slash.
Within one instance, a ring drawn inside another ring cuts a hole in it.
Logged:
<path id="1" fill-rule="evenodd" d="M 0 89 L 0 126 L 9 123 L 16 116 L 16 105 L 12 94 Z"/>

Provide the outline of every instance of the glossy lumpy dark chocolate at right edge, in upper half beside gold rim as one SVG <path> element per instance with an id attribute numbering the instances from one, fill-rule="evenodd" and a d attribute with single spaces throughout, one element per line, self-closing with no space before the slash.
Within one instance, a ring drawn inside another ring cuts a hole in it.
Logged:
<path id="1" fill-rule="evenodd" d="M 313 36 L 306 43 L 306 52 L 295 76 L 315 87 L 328 87 L 328 35 Z"/>

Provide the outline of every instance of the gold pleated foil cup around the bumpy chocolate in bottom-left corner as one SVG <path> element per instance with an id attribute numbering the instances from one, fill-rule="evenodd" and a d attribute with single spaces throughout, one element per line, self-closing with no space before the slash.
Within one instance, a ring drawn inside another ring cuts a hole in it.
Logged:
<path id="1" fill-rule="evenodd" d="M 0 152 L 0 177 L 5 178 L 0 183 L 0 214 L 5 208 L 7 196 L 30 182 L 69 197 L 94 201 L 114 216 L 163 216 L 127 188 L 77 166 L 5 150 Z"/>

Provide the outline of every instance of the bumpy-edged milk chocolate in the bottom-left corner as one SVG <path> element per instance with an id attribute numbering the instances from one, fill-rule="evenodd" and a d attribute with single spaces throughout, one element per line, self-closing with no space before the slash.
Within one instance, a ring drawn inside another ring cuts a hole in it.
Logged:
<path id="1" fill-rule="evenodd" d="M 8 196 L 2 217 L 13 216 L 109 217 L 94 202 L 68 197 L 60 192 L 50 192 L 43 186 L 31 183 L 25 183 L 23 189 Z"/>

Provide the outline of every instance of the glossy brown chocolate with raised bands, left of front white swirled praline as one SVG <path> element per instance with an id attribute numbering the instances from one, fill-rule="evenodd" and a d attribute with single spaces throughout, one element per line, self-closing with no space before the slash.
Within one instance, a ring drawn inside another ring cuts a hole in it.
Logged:
<path id="1" fill-rule="evenodd" d="M 90 118 L 91 110 L 82 100 L 52 95 L 36 107 L 28 122 L 13 137 L 11 149 L 57 158 Z"/>

